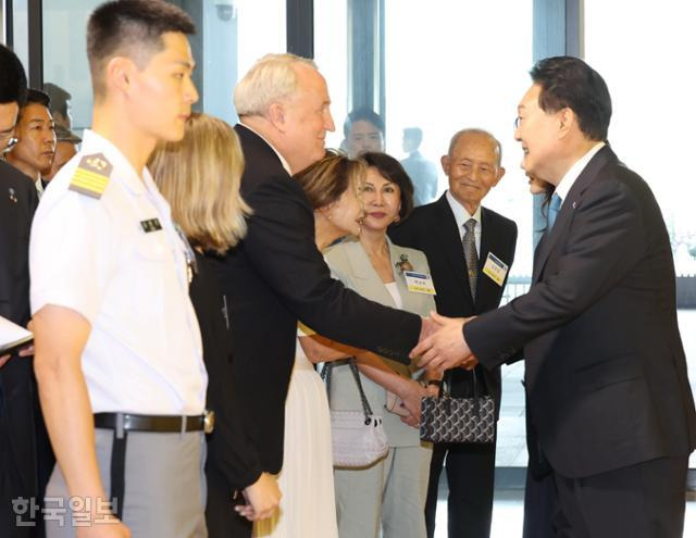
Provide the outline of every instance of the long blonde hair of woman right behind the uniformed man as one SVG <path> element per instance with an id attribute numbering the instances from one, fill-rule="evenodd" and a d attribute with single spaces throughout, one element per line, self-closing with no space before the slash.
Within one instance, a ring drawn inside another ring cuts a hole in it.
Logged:
<path id="1" fill-rule="evenodd" d="M 251 213 L 239 195 L 244 155 L 225 122 L 194 112 L 184 138 L 160 143 L 148 166 L 194 246 L 223 253 L 244 237 Z"/>

